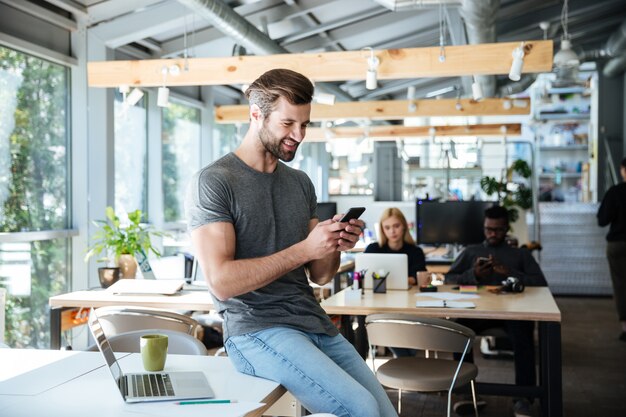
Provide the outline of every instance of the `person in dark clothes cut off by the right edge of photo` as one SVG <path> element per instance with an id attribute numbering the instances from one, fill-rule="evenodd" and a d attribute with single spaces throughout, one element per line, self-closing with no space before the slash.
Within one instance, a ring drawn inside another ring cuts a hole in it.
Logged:
<path id="1" fill-rule="evenodd" d="M 624 182 L 614 185 L 604 194 L 598 209 L 598 224 L 609 227 L 606 235 L 606 257 L 611 270 L 615 306 L 622 323 L 619 339 L 626 342 L 626 158 L 622 159 L 620 174 Z"/>

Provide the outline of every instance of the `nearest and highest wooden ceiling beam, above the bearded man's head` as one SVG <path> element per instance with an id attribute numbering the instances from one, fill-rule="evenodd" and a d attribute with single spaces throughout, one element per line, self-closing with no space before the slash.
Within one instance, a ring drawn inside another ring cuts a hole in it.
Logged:
<path id="1" fill-rule="evenodd" d="M 512 52 L 520 42 L 446 46 L 444 62 L 439 47 L 376 50 L 380 60 L 378 79 L 454 77 L 481 74 L 508 74 Z M 552 70 L 552 41 L 524 42 L 523 73 Z M 298 71 L 314 82 L 364 80 L 367 51 L 236 56 L 224 58 L 144 59 L 100 61 L 87 64 L 90 87 L 120 85 L 156 87 L 161 85 L 246 84 L 273 68 Z M 178 65 L 180 75 L 163 80 L 163 67 Z M 188 68 L 184 71 L 183 68 Z"/>

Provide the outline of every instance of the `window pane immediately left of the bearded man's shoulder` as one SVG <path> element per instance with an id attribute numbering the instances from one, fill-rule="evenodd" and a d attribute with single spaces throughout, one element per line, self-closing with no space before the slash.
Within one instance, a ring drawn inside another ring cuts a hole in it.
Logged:
<path id="1" fill-rule="evenodd" d="M 163 109 L 163 216 L 177 222 L 185 216 L 185 190 L 200 169 L 200 110 L 172 102 Z"/>

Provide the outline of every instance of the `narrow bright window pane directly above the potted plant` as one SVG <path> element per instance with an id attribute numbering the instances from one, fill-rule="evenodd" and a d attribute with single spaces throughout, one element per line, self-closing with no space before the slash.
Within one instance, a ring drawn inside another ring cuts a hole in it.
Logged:
<path id="1" fill-rule="evenodd" d="M 148 116 L 146 98 L 134 106 L 117 93 L 115 114 L 115 211 L 118 214 L 148 206 Z"/>

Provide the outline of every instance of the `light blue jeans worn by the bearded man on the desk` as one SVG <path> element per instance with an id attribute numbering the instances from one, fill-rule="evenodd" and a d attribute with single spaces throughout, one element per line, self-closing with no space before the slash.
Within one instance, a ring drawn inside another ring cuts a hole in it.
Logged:
<path id="1" fill-rule="evenodd" d="M 275 327 L 230 337 L 239 372 L 276 381 L 312 413 L 397 417 L 387 393 L 343 336 Z"/>

